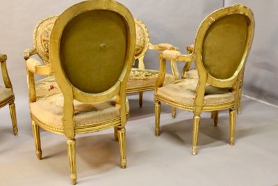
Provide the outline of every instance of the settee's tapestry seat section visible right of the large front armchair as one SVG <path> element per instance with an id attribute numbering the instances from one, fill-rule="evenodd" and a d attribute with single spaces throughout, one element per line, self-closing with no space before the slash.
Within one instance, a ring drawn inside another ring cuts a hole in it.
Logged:
<path id="1" fill-rule="evenodd" d="M 132 68 L 127 80 L 126 89 L 144 86 L 154 86 L 158 77 L 158 70 Z M 165 84 L 174 81 L 174 76 L 166 74 Z"/>

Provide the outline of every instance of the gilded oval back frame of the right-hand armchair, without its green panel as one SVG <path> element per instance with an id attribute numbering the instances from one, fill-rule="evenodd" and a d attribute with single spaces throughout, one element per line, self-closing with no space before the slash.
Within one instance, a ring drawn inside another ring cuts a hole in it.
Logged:
<path id="1" fill-rule="evenodd" d="M 236 71 L 234 72 L 234 75 L 232 75 L 227 79 L 218 79 L 213 77 L 213 75 L 211 75 L 204 67 L 204 61 L 202 56 L 204 38 L 206 36 L 208 29 L 211 27 L 211 25 L 213 25 L 214 22 L 220 20 L 220 18 L 222 17 L 227 17 L 229 15 L 244 15 L 246 17 L 247 19 L 246 42 L 245 42 L 242 58 L 240 60 L 240 63 Z M 208 15 L 200 24 L 195 37 L 195 47 L 193 51 L 193 54 L 195 56 L 195 65 L 199 76 L 199 83 L 196 89 L 197 95 L 195 97 L 195 111 L 197 112 L 202 111 L 206 83 L 220 88 L 233 87 L 235 91 L 238 90 L 240 77 L 245 67 L 247 56 L 250 52 L 252 40 L 254 37 L 254 24 L 255 24 L 254 15 L 252 13 L 252 10 L 241 4 L 236 4 L 235 6 L 229 6 L 227 8 L 221 8 L 220 10 L 216 10 L 215 12 Z M 235 95 L 235 99 L 237 98 L 238 96 Z"/>

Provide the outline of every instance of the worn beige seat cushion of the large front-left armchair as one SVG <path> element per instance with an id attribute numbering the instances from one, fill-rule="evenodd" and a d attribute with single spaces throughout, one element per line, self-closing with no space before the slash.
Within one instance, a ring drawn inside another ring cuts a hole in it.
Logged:
<path id="1" fill-rule="evenodd" d="M 48 125 L 63 125 L 63 103 L 62 93 L 49 95 L 30 104 L 31 113 L 42 123 Z M 126 99 L 127 113 L 129 113 L 129 102 Z M 115 104 L 115 98 L 106 102 L 95 104 L 81 103 L 74 100 L 75 125 L 100 123 L 120 116 L 120 107 Z"/>

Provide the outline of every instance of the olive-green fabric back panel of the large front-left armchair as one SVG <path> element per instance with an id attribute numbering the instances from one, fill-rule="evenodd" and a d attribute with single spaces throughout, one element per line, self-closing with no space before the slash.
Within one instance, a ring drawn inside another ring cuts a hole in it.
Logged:
<path id="1" fill-rule="evenodd" d="M 126 35 L 124 20 L 112 11 L 91 10 L 74 17 L 60 45 L 63 70 L 72 85 L 87 93 L 111 88 L 124 68 Z"/>

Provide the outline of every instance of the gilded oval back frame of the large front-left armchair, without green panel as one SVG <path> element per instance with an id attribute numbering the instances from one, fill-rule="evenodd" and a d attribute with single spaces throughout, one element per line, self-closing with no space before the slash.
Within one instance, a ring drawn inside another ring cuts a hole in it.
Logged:
<path id="1" fill-rule="evenodd" d="M 74 17 L 90 10 L 108 10 L 120 15 L 120 17 L 122 17 L 122 22 L 124 22 L 126 29 L 126 56 L 124 61 L 124 67 L 122 68 L 122 73 L 118 78 L 117 82 L 113 86 L 111 86 L 111 88 L 108 88 L 108 90 L 100 93 L 84 92 L 81 91 L 79 88 L 73 86 L 69 79 L 67 79 L 67 76 L 65 75 L 62 60 L 60 59 L 60 42 L 65 26 L 67 26 L 68 22 L 70 22 L 70 20 L 72 20 Z M 120 3 L 117 3 L 116 1 L 83 1 L 81 3 L 77 3 L 74 6 L 71 6 L 58 17 L 51 32 L 49 45 L 49 61 L 51 61 L 50 65 L 51 68 L 54 70 L 56 82 L 60 86 L 60 89 L 64 95 L 63 123 L 65 135 L 68 138 L 72 138 L 75 135 L 73 119 L 73 100 L 91 103 L 103 102 L 106 100 L 110 100 L 116 95 L 116 102 L 120 105 L 122 126 L 124 126 L 124 124 L 126 123 L 126 81 L 129 77 L 131 65 L 134 60 L 135 40 L 136 29 L 133 17 L 127 8 L 122 6 L 122 4 Z"/>

